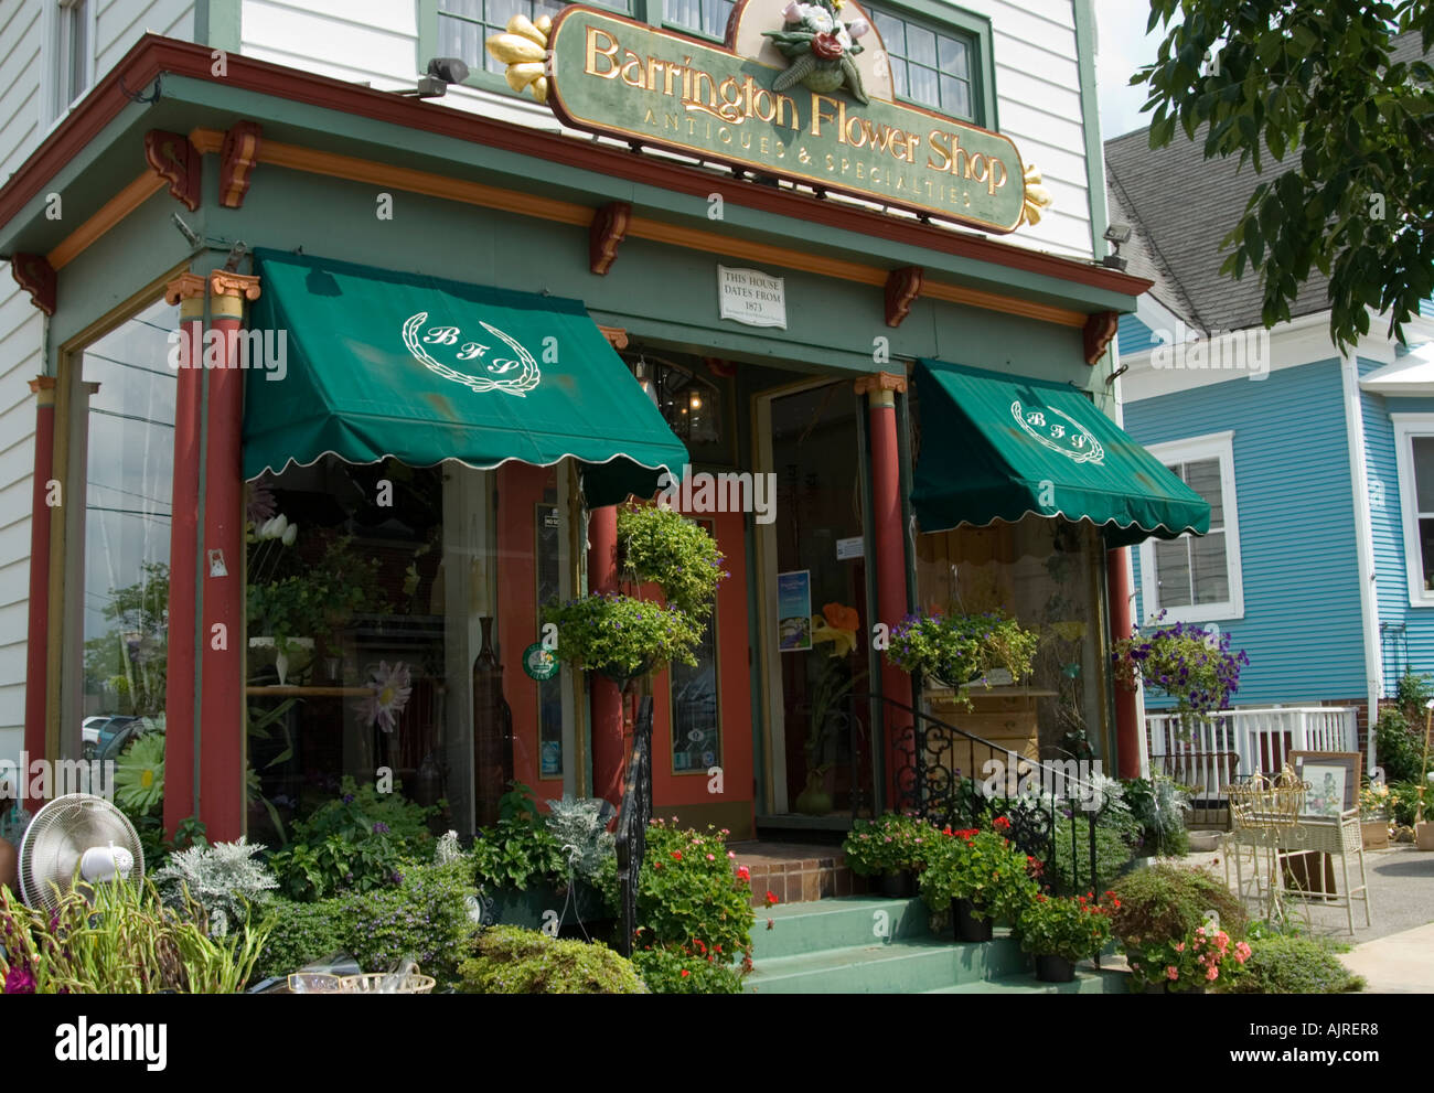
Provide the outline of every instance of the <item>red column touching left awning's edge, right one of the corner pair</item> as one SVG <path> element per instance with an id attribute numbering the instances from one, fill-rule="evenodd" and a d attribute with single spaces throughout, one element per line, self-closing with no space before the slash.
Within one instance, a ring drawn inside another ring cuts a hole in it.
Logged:
<path id="1" fill-rule="evenodd" d="M 244 833 L 244 372 L 235 337 L 244 301 L 260 281 L 224 270 L 209 274 L 211 330 L 222 336 L 222 367 L 206 369 L 204 462 L 204 581 L 201 611 L 199 819 L 211 842 Z M 257 363 L 257 361 L 255 361 Z M 219 567 L 222 564 L 222 572 Z"/>

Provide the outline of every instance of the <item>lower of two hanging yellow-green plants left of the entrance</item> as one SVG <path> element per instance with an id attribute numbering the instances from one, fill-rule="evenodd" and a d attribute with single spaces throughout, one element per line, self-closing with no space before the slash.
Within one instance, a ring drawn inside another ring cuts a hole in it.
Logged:
<path id="1" fill-rule="evenodd" d="M 693 650 L 706 623 L 677 607 L 621 592 L 592 594 L 543 608 L 558 627 L 554 656 L 579 668 L 625 680 L 678 661 L 695 664 Z"/>

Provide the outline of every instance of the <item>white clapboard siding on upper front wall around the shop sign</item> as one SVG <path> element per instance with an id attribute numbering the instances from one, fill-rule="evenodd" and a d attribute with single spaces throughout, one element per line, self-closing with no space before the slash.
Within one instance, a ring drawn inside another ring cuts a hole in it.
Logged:
<path id="1" fill-rule="evenodd" d="M 1038 225 L 1004 238 L 1088 258 L 1090 188 L 1071 0 L 964 0 L 961 6 L 991 19 L 1001 132 L 1015 141 L 1027 164 L 1041 169 L 1055 198 Z M 413 86 L 416 79 L 417 4 L 244 0 L 241 34 L 242 53 L 261 60 L 381 89 Z M 482 57 L 465 60 L 475 67 L 482 63 Z M 453 87 L 443 103 L 558 128 L 551 112 L 516 96 Z"/>

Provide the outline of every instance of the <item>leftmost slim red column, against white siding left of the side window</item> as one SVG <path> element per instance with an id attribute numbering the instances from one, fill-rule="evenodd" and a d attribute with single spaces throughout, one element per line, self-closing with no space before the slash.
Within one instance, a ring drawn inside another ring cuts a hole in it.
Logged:
<path id="1" fill-rule="evenodd" d="M 54 377 L 30 380 L 34 392 L 34 486 L 30 491 L 30 633 L 24 650 L 24 752 L 56 759 L 44 747 L 44 693 L 50 650 L 50 514 L 54 478 Z M 63 501 L 63 498 L 62 498 Z M 23 776 L 23 772 L 22 772 Z"/>

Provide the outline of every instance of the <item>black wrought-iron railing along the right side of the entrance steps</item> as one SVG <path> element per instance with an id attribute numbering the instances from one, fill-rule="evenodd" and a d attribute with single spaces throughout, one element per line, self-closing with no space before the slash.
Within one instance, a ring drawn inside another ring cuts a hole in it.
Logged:
<path id="1" fill-rule="evenodd" d="M 1047 886 L 1098 894 L 1096 829 L 1106 799 L 1088 765 L 1027 759 L 880 694 L 849 700 L 882 703 L 886 737 L 901 740 L 889 810 L 939 828 L 978 828 L 1004 816 L 1011 842 L 1041 862 Z"/>

